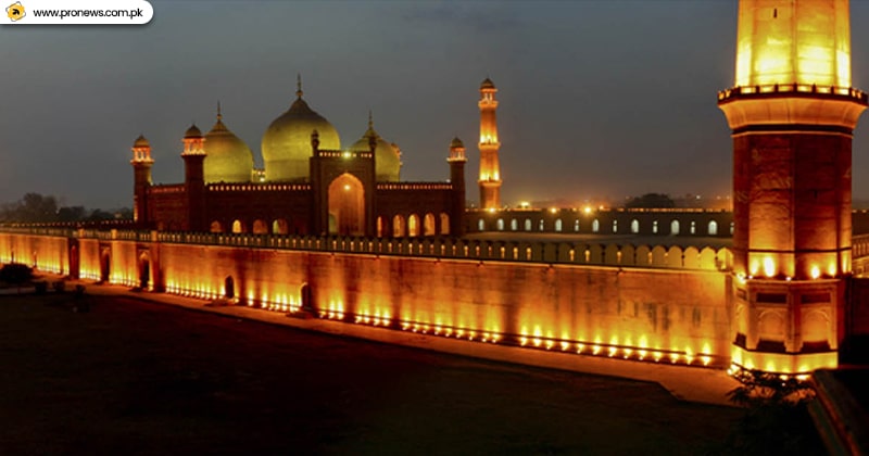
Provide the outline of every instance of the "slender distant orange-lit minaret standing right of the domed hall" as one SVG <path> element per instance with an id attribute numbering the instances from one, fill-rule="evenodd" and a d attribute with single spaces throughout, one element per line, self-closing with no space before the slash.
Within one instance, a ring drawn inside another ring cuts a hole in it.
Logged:
<path id="1" fill-rule="evenodd" d="M 480 207 L 501 208 L 501 170 L 498 164 L 498 89 L 487 77 L 480 85 Z"/>

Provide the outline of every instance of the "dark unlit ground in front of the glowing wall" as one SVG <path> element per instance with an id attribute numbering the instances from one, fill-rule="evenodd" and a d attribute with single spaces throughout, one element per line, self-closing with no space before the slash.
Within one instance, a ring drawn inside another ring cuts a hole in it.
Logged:
<path id="1" fill-rule="evenodd" d="M 742 416 L 654 383 L 84 300 L 0 296 L 0 453 L 697 454 Z"/>

